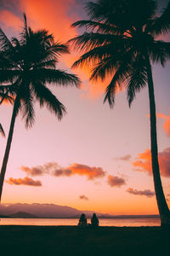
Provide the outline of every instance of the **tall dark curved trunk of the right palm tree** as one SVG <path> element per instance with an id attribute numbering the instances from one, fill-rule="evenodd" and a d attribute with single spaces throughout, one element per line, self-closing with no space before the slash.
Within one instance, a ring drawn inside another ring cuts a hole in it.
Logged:
<path id="1" fill-rule="evenodd" d="M 156 191 L 156 201 L 161 218 L 161 226 L 170 224 L 170 211 L 167 207 L 167 201 L 163 193 L 160 177 L 160 168 L 158 162 L 157 135 L 156 135 L 156 102 L 154 95 L 154 84 L 150 59 L 147 56 L 148 89 L 150 98 L 150 143 L 151 143 L 151 162 Z"/>

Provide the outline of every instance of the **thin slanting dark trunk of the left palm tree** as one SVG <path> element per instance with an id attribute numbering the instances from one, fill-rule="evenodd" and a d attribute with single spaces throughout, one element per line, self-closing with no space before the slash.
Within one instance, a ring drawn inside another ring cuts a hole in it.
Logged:
<path id="1" fill-rule="evenodd" d="M 12 138 L 13 138 L 14 123 L 15 123 L 16 115 L 18 113 L 18 104 L 19 104 L 19 100 L 16 97 L 16 99 L 14 101 L 13 114 L 12 114 L 12 119 L 11 119 L 11 123 L 10 123 L 9 132 L 8 132 L 8 141 L 7 141 L 7 145 L 6 145 L 6 148 L 5 148 L 5 154 L 4 154 L 4 157 L 3 157 L 3 165 L 2 165 L 2 168 L 1 168 L 1 174 L 0 174 L 0 202 L 1 202 L 2 192 L 3 192 L 3 182 L 4 182 L 5 172 L 6 172 L 7 163 L 8 163 L 8 155 L 9 155 L 9 151 L 10 151 L 10 147 L 11 147 L 11 143 L 12 143 Z"/>

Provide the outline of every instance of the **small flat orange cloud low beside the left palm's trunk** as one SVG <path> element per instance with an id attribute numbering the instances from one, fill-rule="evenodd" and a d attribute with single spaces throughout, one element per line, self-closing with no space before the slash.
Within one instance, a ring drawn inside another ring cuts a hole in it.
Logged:
<path id="1" fill-rule="evenodd" d="M 31 177 L 24 177 L 24 178 L 9 177 L 9 179 L 6 180 L 6 183 L 10 185 L 27 185 L 27 186 L 35 186 L 35 187 L 42 186 L 42 183 L 39 180 L 33 180 Z"/>

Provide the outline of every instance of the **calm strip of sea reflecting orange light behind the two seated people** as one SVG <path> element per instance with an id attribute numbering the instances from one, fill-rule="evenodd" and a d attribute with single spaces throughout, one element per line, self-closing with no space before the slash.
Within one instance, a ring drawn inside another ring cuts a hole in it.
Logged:
<path id="1" fill-rule="evenodd" d="M 88 219 L 90 223 L 90 219 Z M 0 225 L 74 226 L 78 218 L 1 218 Z M 159 226 L 160 218 L 99 218 L 100 226 Z"/>

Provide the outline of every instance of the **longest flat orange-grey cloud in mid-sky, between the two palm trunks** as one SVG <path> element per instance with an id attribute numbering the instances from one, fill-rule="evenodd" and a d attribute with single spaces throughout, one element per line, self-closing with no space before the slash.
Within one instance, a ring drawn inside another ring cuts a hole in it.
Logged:
<path id="1" fill-rule="evenodd" d="M 96 177 L 104 177 L 105 172 L 101 167 L 94 167 L 94 166 L 86 166 L 74 163 L 71 166 L 61 167 L 57 163 L 47 163 L 43 166 L 36 166 L 36 167 L 27 167 L 21 166 L 20 168 L 23 172 L 26 172 L 27 175 L 31 176 L 41 176 L 42 174 L 49 174 L 55 177 L 61 176 L 86 176 L 89 180 L 93 180 Z"/>

